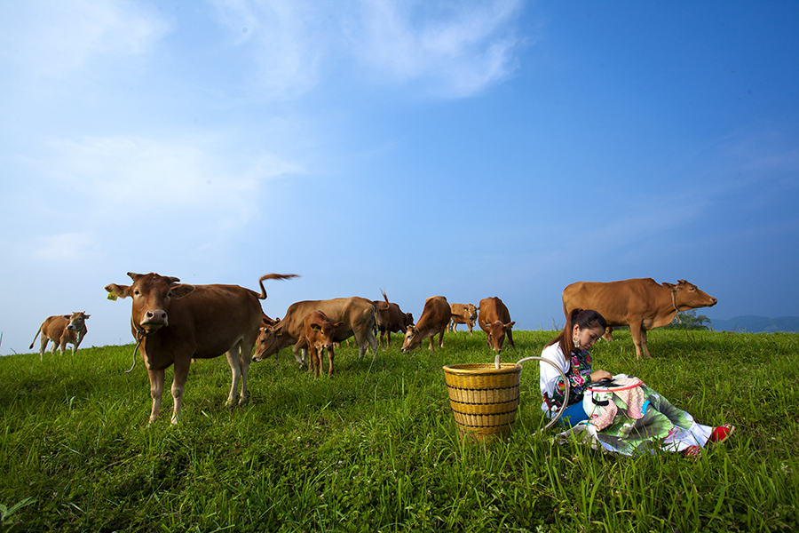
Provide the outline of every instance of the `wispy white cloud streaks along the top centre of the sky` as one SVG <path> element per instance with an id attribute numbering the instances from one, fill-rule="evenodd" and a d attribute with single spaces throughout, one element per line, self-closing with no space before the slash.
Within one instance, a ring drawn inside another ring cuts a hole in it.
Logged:
<path id="1" fill-rule="evenodd" d="M 248 46 L 270 96 L 311 91 L 325 76 L 415 84 L 464 97 L 517 68 L 519 0 L 319 4 L 300 0 L 213 0 L 233 44 Z"/>

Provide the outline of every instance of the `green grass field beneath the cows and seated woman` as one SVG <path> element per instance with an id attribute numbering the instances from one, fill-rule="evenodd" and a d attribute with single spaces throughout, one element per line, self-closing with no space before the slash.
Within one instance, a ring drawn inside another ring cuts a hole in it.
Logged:
<path id="1" fill-rule="evenodd" d="M 514 335 L 503 362 L 555 332 Z M 799 335 L 653 330 L 643 362 L 629 331 L 615 337 L 592 350 L 595 368 L 643 378 L 700 423 L 734 424 L 732 440 L 694 461 L 531 436 L 533 363 L 510 437 L 464 442 L 441 367 L 492 362 L 481 331 L 448 333 L 435 354 L 400 354 L 395 335 L 376 362 L 343 346 L 318 380 L 284 350 L 252 365 L 250 400 L 232 409 L 225 358 L 197 362 L 178 426 L 168 392 L 147 425 L 146 371 L 123 373 L 132 345 L 0 358 L 0 530 L 799 529 Z"/>

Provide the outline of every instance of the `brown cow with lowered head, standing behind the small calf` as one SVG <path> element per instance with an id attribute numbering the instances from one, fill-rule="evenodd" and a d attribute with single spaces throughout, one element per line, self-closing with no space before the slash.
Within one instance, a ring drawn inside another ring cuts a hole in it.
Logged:
<path id="1" fill-rule="evenodd" d="M 295 360 L 300 365 L 305 364 L 308 346 L 303 340 L 303 322 L 305 316 L 316 310 L 326 314 L 330 322 L 344 322 L 341 327 L 336 328 L 334 342 L 342 342 L 354 336 L 360 350 L 359 361 L 363 361 L 363 355 L 369 347 L 377 358 L 377 338 L 373 332 L 377 309 L 366 298 L 352 297 L 305 300 L 291 304 L 281 322 L 276 326 L 261 328 L 252 360 L 263 361 L 283 348 L 292 346 Z"/>

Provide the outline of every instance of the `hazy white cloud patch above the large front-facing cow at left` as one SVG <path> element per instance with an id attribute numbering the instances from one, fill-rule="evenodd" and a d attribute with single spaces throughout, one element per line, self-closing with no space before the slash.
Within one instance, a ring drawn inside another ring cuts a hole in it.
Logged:
<path id="1" fill-rule="evenodd" d="M 59 183 L 80 183 L 84 202 L 103 217 L 187 211 L 241 222 L 255 209 L 251 198 L 260 183 L 302 172 L 267 153 L 219 156 L 220 144 L 214 139 L 60 140 L 53 143 L 49 173 Z"/>

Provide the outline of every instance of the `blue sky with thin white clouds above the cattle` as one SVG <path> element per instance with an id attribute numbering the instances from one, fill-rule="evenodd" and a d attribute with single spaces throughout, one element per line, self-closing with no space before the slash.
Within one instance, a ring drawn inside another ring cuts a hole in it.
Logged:
<path id="1" fill-rule="evenodd" d="M 562 324 L 575 281 L 799 314 L 795 2 L 0 3 L 0 353 L 128 271 Z"/>

